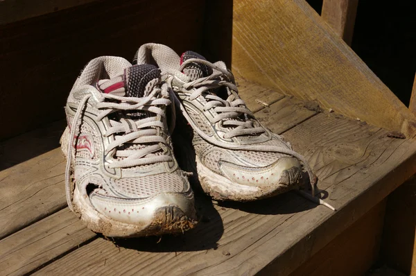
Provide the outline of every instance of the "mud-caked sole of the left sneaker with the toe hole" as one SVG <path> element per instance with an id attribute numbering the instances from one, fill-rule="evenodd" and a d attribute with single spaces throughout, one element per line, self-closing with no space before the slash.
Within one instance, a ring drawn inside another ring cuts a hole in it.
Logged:
<path id="1" fill-rule="evenodd" d="M 60 139 L 61 150 L 65 158 L 68 158 L 68 141 L 69 129 L 66 128 Z M 73 168 L 71 168 L 71 187 L 75 187 L 72 179 Z M 76 188 L 73 189 L 73 191 L 73 212 L 90 230 L 101 233 L 104 236 L 126 238 L 177 234 L 192 229 L 197 223 L 196 214 L 187 216 L 187 214 L 176 205 L 168 205 L 156 209 L 152 218 L 142 225 L 114 221 L 114 219 L 104 216 L 92 206 L 87 193 L 81 194 L 79 189 Z M 155 196 L 155 198 L 156 197 L 157 196 Z M 192 208 L 193 206 L 191 206 L 191 209 Z"/>

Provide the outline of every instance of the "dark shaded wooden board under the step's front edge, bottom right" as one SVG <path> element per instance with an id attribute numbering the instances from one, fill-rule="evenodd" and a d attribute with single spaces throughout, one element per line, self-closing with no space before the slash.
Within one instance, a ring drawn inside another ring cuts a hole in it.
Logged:
<path id="1" fill-rule="evenodd" d="M 379 256 L 385 202 L 372 207 L 290 276 L 365 275 Z"/>

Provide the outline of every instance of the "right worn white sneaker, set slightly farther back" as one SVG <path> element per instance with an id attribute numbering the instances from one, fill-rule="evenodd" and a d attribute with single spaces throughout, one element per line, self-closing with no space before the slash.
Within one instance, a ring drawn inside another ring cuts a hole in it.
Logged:
<path id="1" fill-rule="evenodd" d="M 193 51 L 179 56 L 168 46 L 144 44 L 134 63 L 157 65 L 162 80 L 173 89 L 177 110 L 191 128 L 200 186 L 212 198 L 269 198 L 300 187 L 303 169 L 315 187 L 315 175 L 304 157 L 254 117 L 224 62 L 211 63 Z M 187 132 L 186 125 L 178 128 Z"/>

